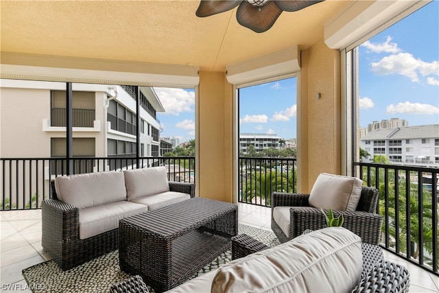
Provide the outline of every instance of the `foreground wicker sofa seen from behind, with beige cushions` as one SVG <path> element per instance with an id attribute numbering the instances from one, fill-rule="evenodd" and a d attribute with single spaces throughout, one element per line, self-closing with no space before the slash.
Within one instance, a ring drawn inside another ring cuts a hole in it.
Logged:
<path id="1" fill-rule="evenodd" d="M 233 261 L 169 290 L 186 292 L 408 292 L 404 266 L 383 259 L 379 246 L 361 243 L 346 228 L 324 228 L 269 248 L 241 234 Z M 141 277 L 110 292 L 147 292 Z M 141 288 L 141 290 L 139 290 Z"/>

